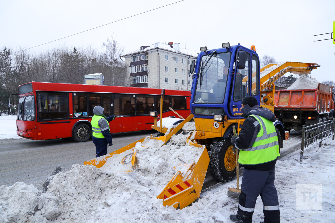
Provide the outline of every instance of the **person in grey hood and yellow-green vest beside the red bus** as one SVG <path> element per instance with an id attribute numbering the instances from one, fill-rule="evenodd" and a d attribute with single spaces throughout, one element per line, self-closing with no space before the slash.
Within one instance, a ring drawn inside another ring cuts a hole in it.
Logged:
<path id="1" fill-rule="evenodd" d="M 107 146 L 113 145 L 113 139 L 109 130 L 109 122 L 115 119 L 112 115 L 108 118 L 104 115 L 104 108 L 95 106 L 93 109 L 92 141 L 95 145 L 96 157 L 107 154 Z"/>

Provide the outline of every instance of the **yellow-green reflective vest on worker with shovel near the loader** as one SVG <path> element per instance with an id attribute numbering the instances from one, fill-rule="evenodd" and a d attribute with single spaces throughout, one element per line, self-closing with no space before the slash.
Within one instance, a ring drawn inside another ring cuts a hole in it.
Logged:
<path id="1" fill-rule="evenodd" d="M 255 142 L 251 148 L 240 150 L 239 163 L 261 164 L 275 160 L 279 155 L 278 136 L 273 122 L 258 115 L 250 115 L 260 124 Z"/>

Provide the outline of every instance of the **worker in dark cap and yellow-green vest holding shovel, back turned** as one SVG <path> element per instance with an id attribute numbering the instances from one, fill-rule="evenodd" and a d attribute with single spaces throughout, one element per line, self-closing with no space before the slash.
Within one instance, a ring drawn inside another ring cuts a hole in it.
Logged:
<path id="1" fill-rule="evenodd" d="M 241 194 L 233 222 L 251 223 L 256 200 L 261 195 L 264 222 L 280 222 L 277 190 L 273 184 L 277 157 L 278 136 L 273 125 L 276 116 L 258 105 L 256 98 L 242 100 L 245 121 L 240 135 L 231 138 L 232 146 L 239 149 L 238 162 L 244 167 Z M 233 149 L 235 151 L 235 149 Z"/>

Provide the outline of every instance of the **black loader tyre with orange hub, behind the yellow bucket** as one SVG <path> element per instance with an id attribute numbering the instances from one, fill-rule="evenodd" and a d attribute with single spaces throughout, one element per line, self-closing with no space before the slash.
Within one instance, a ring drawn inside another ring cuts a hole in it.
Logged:
<path id="1" fill-rule="evenodd" d="M 208 168 L 215 180 L 227 182 L 236 177 L 236 155 L 233 149 L 230 137 L 214 139 L 210 145 Z"/>

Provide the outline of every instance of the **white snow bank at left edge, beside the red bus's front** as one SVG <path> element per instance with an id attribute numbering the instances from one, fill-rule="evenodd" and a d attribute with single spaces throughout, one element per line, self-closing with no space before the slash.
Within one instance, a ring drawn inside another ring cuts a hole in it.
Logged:
<path id="1" fill-rule="evenodd" d="M 21 138 L 16 134 L 16 115 L 1 115 L 0 139 L 15 139 Z"/>

